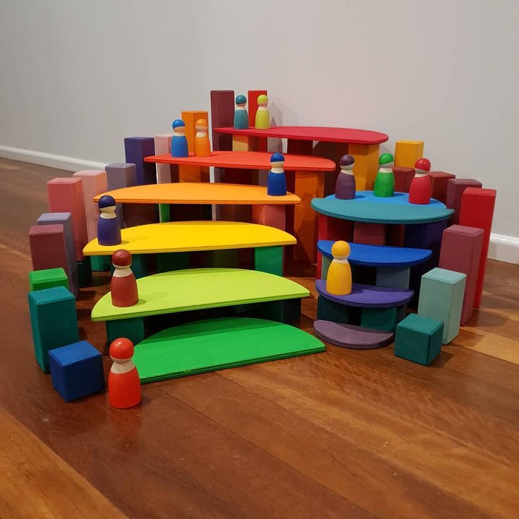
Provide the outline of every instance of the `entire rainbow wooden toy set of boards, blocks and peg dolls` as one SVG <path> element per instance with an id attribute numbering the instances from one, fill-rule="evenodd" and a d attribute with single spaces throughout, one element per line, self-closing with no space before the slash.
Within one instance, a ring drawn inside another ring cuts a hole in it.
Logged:
<path id="1" fill-rule="evenodd" d="M 322 352 L 318 338 L 394 339 L 428 365 L 479 307 L 495 190 L 430 171 L 421 141 L 393 157 L 384 133 L 271 126 L 268 102 L 213 91 L 212 142 L 209 114 L 183 111 L 170 134 L 125 138 L 124 163 L 47 184 L 28 298 L 36 360 L 66 401 L 104 389 L 75 310 L 92 271 L 112 271 L 91 318 L 106 323 L 115 408 L 141 383 Z M 283 277 L 288 256 L 317 262 L 318 338 L 290 325 L 310 292 Z"/>

